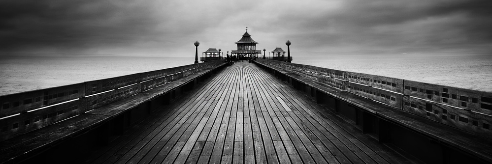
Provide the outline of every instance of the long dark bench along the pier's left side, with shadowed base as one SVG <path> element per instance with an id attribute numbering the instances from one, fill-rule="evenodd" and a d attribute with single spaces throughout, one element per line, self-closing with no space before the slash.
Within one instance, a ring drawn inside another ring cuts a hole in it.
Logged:
<path id="1" fill-rule="evenodd" d="M 169 103 L 169 100 L 177 96 L 181 90 L 190 89 L 198 81 L 208 78 L 213 71 L 223 68 L 225 64 L 199 71 L 101 108 L 86 111 L 64 121 L 1 141 L 0 163 L 23 162 L 56 146 L 71 147 L 70 149 L 73 150 L 71 153 L 77 153 L 84 151 L 84 146 L 105 144 L 112 134 L 123 134 L 125 128 L 130 124 L 141 120 L 159 106 Z M 87 136 L 87 134 L 92 136 L 88 139 L 80 139 L 79 136 Z M 79 139 L 73 139 L 77 137 Z M 73 141 L 66 144 L 67 140 Z M 86 142 L 80 142 L 80 140 Z M 65 145 L 60 146 L 61 144 Z M 79 149 L 77 146 L 82 146 L 82 148 Z"/>

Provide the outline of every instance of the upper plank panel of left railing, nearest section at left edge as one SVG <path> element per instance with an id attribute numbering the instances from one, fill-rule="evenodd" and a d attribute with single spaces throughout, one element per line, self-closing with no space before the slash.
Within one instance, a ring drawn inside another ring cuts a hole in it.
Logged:
<path id="1" fill-rule="evenodd" d="M 0 118 L 84 97 L 84 83 L 0 96 Z"/>

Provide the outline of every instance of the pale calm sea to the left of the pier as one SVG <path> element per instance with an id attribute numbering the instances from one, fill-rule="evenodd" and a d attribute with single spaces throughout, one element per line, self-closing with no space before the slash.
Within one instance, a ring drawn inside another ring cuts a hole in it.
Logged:
<path id="1" fill-rule="evenodd" d="M 194 57 L 6 56 L 0 95 L 193 64 Z"/>

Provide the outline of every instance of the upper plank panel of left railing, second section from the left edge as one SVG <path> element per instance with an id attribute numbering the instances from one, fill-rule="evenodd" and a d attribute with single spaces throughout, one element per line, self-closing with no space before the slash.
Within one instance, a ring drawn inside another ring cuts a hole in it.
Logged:
<path id="1" fill-rule="evenodd" d="M 85 82 L 86 95 L 97 94 L 139 82 L 140 74 L 132 74 L 96 81 Z"/>

